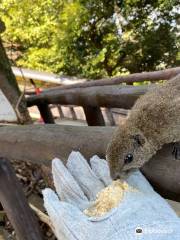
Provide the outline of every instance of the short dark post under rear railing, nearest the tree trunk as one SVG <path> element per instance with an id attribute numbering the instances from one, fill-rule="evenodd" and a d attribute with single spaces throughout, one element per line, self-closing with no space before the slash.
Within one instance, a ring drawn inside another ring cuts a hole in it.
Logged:
<path id="1" fill-rule="evenodd" d="M 51 110 L 48 106 L 48 104 L 45 104 L 45 103 L 39 103 L 37 105 L 38 109 L 39 109 L 39 112 L 41 114 L 41 117 L 43 118 L 44 120 L 44 123 L 55 123 L 54 122 L 54 118 L 53 118 L 53 115 L 51 113 Z"/>

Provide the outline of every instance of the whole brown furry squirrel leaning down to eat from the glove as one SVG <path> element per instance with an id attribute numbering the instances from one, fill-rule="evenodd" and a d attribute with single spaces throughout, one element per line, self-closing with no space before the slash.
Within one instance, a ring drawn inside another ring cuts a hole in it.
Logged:
<path id="1" fill-rule="evenodd" d="M 112 178 L 140 168 L 171 142 L 180 142 L 180 75 L 140 97 L 116 130 L 106 153 Z M 180 157 L 179 146 L 174 146 L 175 158 Z"/>

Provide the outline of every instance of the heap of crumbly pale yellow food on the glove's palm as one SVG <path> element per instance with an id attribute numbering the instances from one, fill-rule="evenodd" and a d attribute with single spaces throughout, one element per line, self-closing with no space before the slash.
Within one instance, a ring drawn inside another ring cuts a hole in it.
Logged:
<path id="1" fill-rule="evenodd" d="M 89 217 L 101 217 L 122 201 L 125 191 L 133 191 L 126 182 L 113 181 L 111 185 L 97 194 L 97 199 L 84 213 Z"/>

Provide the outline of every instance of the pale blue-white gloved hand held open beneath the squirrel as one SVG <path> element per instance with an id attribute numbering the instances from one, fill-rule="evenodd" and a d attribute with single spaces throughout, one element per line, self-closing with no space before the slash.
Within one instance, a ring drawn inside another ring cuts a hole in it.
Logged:
<path id="1" fill-rule="evenodd" d="M 111 183 L 105 160 L 93 156 L 90 165 L 79 152 L 72 152 L 66 166 L 52 161 L 58 196 L 43 190 L 44 205 L 59 240 L 179 240 L 180 220 L 140 171 L 128 177 L 138 191 L 127 191 L 118 207 L 102 217 L 83 213 L 96 194 Z"/>

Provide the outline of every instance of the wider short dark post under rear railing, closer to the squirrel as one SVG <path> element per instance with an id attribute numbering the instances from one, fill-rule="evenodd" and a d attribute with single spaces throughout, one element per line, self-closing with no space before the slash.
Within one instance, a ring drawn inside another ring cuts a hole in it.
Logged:
<path id="1" fill-rule="evenodd" d="M 83 107 L 86 121 L 89 126 L 105 126 L 105 121 L 100 107 Z"/>

